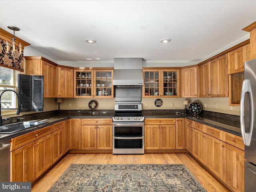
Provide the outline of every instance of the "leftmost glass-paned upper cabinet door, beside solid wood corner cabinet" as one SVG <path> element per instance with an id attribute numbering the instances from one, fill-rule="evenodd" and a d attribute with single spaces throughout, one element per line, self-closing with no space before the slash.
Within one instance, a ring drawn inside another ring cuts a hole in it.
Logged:
<path id="1" fill-rule="evenodd" d="M 75 94 L 74 96 L 92 97 L 92 70 L 76 70 L 75 75 Z"/>

